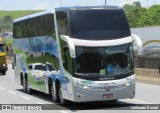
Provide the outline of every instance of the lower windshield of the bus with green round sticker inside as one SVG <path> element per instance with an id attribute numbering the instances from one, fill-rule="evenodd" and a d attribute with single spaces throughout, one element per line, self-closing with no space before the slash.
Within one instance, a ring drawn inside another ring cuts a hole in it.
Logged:
<path id="1" fill-rule="evenodd" d="M 117 77 L 133 72 L 133 46 L 76 47 L 75 75 Z"/>

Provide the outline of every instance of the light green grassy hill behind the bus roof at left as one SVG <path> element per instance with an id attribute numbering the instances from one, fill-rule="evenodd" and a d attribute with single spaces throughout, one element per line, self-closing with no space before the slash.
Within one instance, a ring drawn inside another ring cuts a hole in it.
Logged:
<path id="1" fill-rule="evenodd" d="M 5 16 L 11 16 L 13 19 L 34 14 L 37 12 L 40 12 L 42 10 L 17 10 L 17 11 L 4 11 L 0 10 L 0 18 L 5 17 Z"/>

